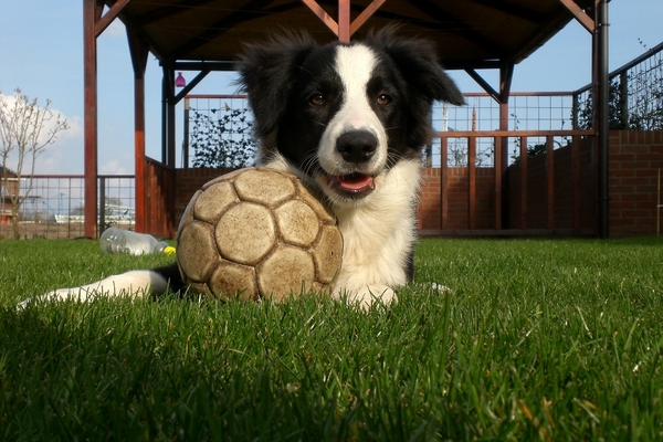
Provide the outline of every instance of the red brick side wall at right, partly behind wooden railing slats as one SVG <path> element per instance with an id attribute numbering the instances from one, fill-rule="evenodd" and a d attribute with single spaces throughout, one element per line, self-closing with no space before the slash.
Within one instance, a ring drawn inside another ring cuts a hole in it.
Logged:
<path id="1" fill-rule="evenodd" d="M 663 130 L 615 130 L 609 138 L 610 238 L 656 233 L 657 175 L 663 169 Z M 546 227 L 546 157 L 528 159 L 527 229 Z M 508 168 L 509 227 L 519 228 L 520 165 Z M 555 229 L 573 228 L 570 147 L 555 150 Z M 592 139 L 580 145 L 580 229 L 597 224 L 597 156 Z"/>

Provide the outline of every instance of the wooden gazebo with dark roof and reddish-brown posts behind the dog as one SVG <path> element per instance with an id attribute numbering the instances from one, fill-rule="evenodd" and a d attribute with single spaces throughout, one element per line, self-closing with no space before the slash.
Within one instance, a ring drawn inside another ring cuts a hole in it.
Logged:
<path id="1" fill-rule="evenodd" d="M 96 39 L 115 19 L 127 29 L 135 74 L 136 230 L 146 230 L 145 70 L 152 53 L 164 71 L 162 157 L 175 167 L 175 106 L 211 71 L 230 71 L 244 42 L 304 29 L 320 42 L 348 42 L 365 30 L 399 23 L 403 35 L 438 43 L 448 70 L 464 70 L 501 105 L 506 130 L 514 66 L 571 20 L 593 35 L 599 144 L 599 236 L 607 238 L 608 0 L 83 0 L 85 69 L 85 235 L 96 238 Z M 480 70 L 498 70 L 488 84 Z M 176 93 L 175 72 L 198 74 Z M 505 157 L 506 160 L 506 157 Z M 601 221 L 603 220 L 603 221 Z"/>

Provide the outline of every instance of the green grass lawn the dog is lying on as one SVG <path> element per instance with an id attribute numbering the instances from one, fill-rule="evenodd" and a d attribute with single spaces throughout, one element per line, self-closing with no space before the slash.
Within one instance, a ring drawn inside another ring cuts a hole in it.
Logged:
<path id="1" fill-rule="evenodd" d="M 13 307 L 164 261 L 0 241 L 0 440 L 663 438 L 656 238 L 421 241 L 417 284 L 366 314 L 315 298 Z"/>

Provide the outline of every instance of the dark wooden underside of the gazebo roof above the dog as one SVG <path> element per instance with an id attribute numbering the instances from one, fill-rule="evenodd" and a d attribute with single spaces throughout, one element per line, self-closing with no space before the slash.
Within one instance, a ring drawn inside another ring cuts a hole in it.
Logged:
<path id="1" fill-rule="evenodd" d="M 117 1 L 118 3 L 120 1 Z M 125 0 L 126 2 L 126 0 Z M 231 62 L 245 42 L 284 29 L 307 30 L 322 43 L 336 36 L 307 0 L 131 0 L 119 18 L 162 63 Z M 436 42 L 448 69 L 499 67 L 520 62 L 593 0 L 387 0 L 358 31 L 400 23 L 401 34 Z M 108 6 L 115 0 L 106 0 Z M 352 0 L 356 19 L 371 0 Z M 565 6 L 565 3 L 567 3 Z M 337 0 L 318 1 L 332 18 Z M 217 64 L 217 69 L 220 69 Z M 228 69 L 231 69 L 229 64 Z"/>

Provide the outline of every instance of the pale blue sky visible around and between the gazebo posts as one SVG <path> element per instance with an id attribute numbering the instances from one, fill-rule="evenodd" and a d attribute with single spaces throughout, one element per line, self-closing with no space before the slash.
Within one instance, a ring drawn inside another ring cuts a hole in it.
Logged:
<path id="1" fill-rule="evenodd" d="M 663 42 L 662 0 L 612 0 L 609 4 L 610 70 Z M 51 107 L 71 129 L 38 162 L 39 173 L 83 172 L 83 1 L 0 0 L 0 92 L 23 94 Z M 641 43 L 641 42 L 642 43 Z M 99 173 L 133 173 L 133 70 L 124 25 L 98 39 Z M 590 82 L 591 38 L 571 22 L 515 69 L 512 91 L 573 91 Z M 451 72 L 463 92 L 482 92 L 464 73 Z M 495 73 L 482 73 L 494 86 Z M 188 73 L 189 80 L 193 73 Z M 212 73 L 196 94 L 233 93 L 229 74 Z M 146 78 L 147 155 L 160 159 L 161 70 L 154 56 Z M 178 136 L 182 110 L 177 109 Z"/>

